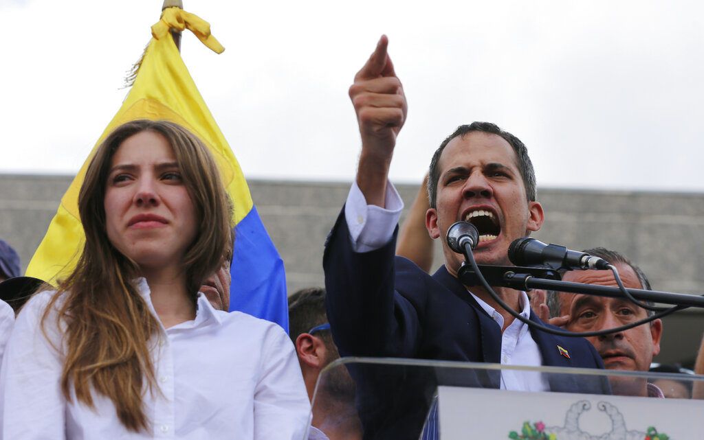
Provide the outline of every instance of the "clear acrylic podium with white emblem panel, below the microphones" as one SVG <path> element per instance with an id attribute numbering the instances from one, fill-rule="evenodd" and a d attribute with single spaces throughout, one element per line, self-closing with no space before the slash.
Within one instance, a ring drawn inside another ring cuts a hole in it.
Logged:
<path id="1" fill-rule="evenodd" d="M 549 391 L 508 391 L 502 380 Z M 318 379 L 313 425 L 329 436 L 363 429 L 374 440 L 704 439 L 704 400 L 648 397 L 658 392 L 653 382 L 670 395 L 704 387 L 703 381 L 670 373 L 343 358 Z"/>

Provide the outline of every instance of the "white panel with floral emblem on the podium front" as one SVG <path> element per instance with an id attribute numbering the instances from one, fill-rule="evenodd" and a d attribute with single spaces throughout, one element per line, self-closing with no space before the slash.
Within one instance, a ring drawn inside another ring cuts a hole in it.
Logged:
<path id="1" fill-rule="evenodd" d="M 438 387 L 441 440 L 704 439 L 704 401 Z"/>

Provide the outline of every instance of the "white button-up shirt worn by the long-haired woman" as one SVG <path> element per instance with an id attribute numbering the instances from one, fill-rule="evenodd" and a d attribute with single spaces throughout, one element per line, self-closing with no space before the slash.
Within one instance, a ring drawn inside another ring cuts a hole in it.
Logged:
<path id="1" fill-rule="evenodd" d="M 138 287 L 156 317 L 144 278 Z M 134 433 L 105 396 L 93 394 L 94 410 L 75 394 L 64 399 L 56 312 L 46 321 L 46 337 L 40 328 L 52 295 L 30 299 L 8 343 L 0 370 L 4 439 L 303 439 L 310 403 L 291 340 L 278 325 L 216 311 L 199 294 L 193 321 L 160 325 L 151 339 L 161 394 L 146 393 L 151 427 Z"/>

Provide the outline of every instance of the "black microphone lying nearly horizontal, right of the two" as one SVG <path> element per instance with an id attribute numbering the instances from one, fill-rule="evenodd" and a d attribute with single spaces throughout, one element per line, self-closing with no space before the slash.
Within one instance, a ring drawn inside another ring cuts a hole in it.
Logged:
<path id="1" fill-rule="evenodd" d="M 608 269 L 608 261 L 565 246 L 546 245 L 535 238 L 518 238 L 508 247 L 508 259 L 516 266 L 546 265 L 567 269 Z"/>

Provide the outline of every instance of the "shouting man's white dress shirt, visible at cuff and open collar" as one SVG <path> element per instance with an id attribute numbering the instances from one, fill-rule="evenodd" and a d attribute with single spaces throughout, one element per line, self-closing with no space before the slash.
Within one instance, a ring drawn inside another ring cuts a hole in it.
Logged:
<path id="1" fill-rule="evenodd" d="M 386 185 L 386 209 L 375 205 L 367 205 L 362 191 L 356 181 L 352 183 L 345 204 L 345 220 L 350 231 L 350 240 L 355 252 L 370 252 L 386 245 L 394 236 L 394 229 L 401 217 L 403 200 L 398 195 L 394 185 Z M 525 318 L 530 316 L 528 295 L 521 292 L 520 297 L 522 312 Z M 503 316 L 493 307 L 479 299 L 470 292 L 496 321 L 499 328 L 503 328 Z M 542 356 L 538 344 L 531 336 L 526 324 L 515 319 L 501 336 L 501 364 L 502 365 L 542 365 Z M 501 374 L 501 388 L 516 391 L 547 391 L 548 382 L 540 373 L 508 371 Z"/>

